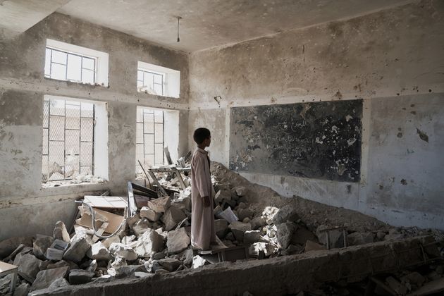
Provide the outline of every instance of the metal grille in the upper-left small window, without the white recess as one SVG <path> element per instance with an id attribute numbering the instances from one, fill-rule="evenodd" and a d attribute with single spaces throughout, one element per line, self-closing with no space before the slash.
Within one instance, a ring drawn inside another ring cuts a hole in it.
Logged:
<path id="1" fill-rule="evenodd" d="M 44 77 L 94 84 L 97 58 L 47 47 Z"/>

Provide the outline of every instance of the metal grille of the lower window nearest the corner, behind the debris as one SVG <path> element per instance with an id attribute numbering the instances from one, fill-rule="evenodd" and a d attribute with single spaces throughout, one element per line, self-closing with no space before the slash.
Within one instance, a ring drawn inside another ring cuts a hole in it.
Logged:
<path id="1" fill-rule="evenodd" d="M 136 173 L 142 173 L 137 160 L 144 166 L 164 164 L 164 111 L 137 109 Z"/>

